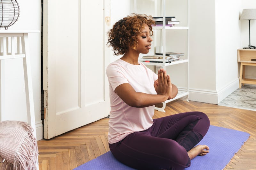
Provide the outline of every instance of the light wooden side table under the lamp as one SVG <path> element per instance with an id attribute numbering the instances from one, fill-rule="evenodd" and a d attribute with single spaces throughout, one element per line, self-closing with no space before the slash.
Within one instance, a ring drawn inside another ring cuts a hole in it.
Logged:
<path id="1" fill-rule="evenodd" d="M 246 79 L 245 66 L 256 66 L 256 49 L 238 49 L 237 62 L 240 62 L 239 88 L 246 84 L 256 84 L 256 79 Z"/>

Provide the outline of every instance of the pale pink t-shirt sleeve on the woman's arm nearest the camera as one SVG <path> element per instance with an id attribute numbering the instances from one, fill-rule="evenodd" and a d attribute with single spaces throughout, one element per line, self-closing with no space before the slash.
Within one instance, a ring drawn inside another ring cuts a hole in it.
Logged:
<path id="1" fill-rule="evenodd" d="M 129 83 L 127 78 L 125 77 L 124 71 L 118 65 L 109 65 L 107 67 L 106 74 L 108 76 L 108 82 L 112 86 L 114 91 L 117 86 L 124 83 Z"/>

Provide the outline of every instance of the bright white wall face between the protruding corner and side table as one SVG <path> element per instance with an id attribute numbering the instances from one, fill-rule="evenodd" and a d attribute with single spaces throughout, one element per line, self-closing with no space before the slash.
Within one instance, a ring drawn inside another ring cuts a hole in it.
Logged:
<path id="1" fill-rule="evenodd" d="M 232 8 L 229 8 L 230 4 Z M 241 0 L 215 1 L 215 8 L 216 91 L 219 103 L 238 88 L 237 49 L 241 44 L 239 41 Z"/>

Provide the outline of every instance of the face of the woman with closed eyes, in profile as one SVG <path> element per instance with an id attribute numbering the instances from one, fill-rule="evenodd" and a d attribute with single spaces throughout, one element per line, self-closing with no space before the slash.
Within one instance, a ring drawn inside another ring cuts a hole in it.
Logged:
<path id="1" fill-rule="evenodd" d="M 149 34 L 148 25 L 144 24 L 141 34 L 138 36 L 138 47 L 136 51 L 142 54 L 147 54 L 151 48 L 151 41 L 153 41 Z"/>

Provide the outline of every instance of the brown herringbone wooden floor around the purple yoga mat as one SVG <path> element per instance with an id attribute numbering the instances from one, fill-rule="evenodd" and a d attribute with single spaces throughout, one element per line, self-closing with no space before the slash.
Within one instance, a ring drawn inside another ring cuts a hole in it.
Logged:
<path id="1" fill-rule="evenodd" d="M 256 169 L 256 112 L 215 104 L 174 101 L 166 113 L 155 111 L 153 118 L 188 111 L 202 111 L 215 126 L 245 131 L 251 137 L 226 166 L 227 169 Z M 40 170 L 72 170 L 109 151 L 108 118 L 85 125 L 49 140 L 38 141 Z"/>

